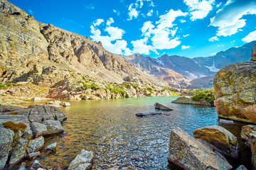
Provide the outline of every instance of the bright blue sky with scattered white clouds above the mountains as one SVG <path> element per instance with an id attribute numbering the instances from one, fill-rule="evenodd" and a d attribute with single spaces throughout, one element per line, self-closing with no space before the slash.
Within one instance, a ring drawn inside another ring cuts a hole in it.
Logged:
<path id="1" fill-rule="evenodd" d="M 256 40 L 255 0 L 10 0 L 119 55 L 206 57 Z"/>

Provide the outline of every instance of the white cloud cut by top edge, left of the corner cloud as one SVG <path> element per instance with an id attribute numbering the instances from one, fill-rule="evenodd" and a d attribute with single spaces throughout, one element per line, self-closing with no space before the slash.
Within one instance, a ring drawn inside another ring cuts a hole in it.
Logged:
<path id="1" fill-rule="evenodd" d="M 191 14 L 191 21 L 205 18 L 208 13 L 213 9 L 215 0 L 184 0 L 183 1 L 189 8 Z"/>

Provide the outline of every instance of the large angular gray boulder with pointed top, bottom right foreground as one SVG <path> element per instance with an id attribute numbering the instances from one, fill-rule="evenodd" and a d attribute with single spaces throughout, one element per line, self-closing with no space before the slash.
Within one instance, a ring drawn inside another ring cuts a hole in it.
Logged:
<path id="1" fill-rule="evenodd" d="M 183 169 L 232 169 L 228 162 L 181 128 L 171 130 L 169 162 Z"/>

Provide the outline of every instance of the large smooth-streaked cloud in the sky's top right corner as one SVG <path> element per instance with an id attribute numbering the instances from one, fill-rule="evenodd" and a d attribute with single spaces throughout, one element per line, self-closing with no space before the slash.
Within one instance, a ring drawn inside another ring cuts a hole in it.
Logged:
<path id="1" fill-rule="evenodd" d="M 210 26 L 218 27 L 217 36 L 228 36 L 238 33 L 246 23 L 242 16 L 256 14 L 255 0 L 228 1 L 215 15 L 210 18 Z"/>

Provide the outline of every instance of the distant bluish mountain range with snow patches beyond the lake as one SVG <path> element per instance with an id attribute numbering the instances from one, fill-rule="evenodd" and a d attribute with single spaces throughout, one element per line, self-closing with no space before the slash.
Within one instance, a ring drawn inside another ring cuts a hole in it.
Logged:
<path id="1" fill-rule="evenodd" d="M 144 57 L 140 54 L 126 58 L 133 62 L 137 69 L 152 74 L 170 86 L 178 88 L 209 88 L 213 87 L 213 77 L 223 67 L 237 63 L 249 62 L 250 52 L 256 41 L 242 47 L 232 47 L 218 52 L 211 57 L 181 57 L 178 55 L 162 55 L 158 58 Z"/>

